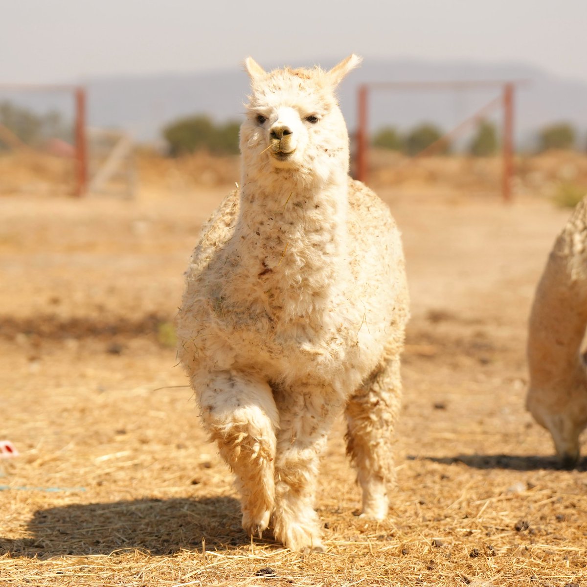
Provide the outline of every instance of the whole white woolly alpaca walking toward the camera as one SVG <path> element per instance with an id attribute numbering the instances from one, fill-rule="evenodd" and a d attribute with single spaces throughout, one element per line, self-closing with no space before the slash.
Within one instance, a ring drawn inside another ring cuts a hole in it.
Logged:
<path id="1" fill-rule="evenodd" d="M 387 515 L 408 294 L 386 205 L 348 176 L 325 72 L 265 72 L 251 58 L 241 187 L 203 228 L 178 317 L 180 358 L 242 495 L 242 526 L 271 523 L 292 549 L 322 549 L 318 458 L 346 409 L 363 514 Z"/>

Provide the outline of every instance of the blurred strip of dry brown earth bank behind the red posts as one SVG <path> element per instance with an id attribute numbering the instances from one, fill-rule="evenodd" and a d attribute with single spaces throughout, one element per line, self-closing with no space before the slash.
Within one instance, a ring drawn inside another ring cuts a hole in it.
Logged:
<path id="1" fill-rule="evenodd" d="M 502 160 L 498 156 L 454 154 L 414 160 L 397 151 L 372 149 L 369 163 L 370 184 L 397 195 L 501 198 Z M 0 154 L 0 191 L 14 197 L 72 197 L 72 167 L 71 161 L 35 151 Z M 139 147 L 133 154 L 133 173 L 136 181 L 131 192 L 114 191 L 106 199 L 188 195 L 198 187 L 234 185 L 239 181 L 239 160 L 238 156 L 215 156 L 205 150 L 167 157 Z M 544 198 L 572 207 L 587 193 L 587 154 L 569 150 L 518 154 L 512 190 L 514 198 Z"/>

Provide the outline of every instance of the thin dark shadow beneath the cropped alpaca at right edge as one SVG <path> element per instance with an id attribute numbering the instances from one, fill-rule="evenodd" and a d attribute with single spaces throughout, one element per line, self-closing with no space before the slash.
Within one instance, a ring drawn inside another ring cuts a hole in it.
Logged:
<path id="1" fill-rule="evenodd" d="M 456 457 L 407 457 L 409 460 L 426 460 L 444 465 L 463 463 L 475 469 L 510 469 L 513 471 L 537 471 L 564 469 L 561 461 L 555 456 L 520 456 L 515 454 L 458 454 Z M 576 468 L 587 470 L 587 457 L 581 458 Z"/>

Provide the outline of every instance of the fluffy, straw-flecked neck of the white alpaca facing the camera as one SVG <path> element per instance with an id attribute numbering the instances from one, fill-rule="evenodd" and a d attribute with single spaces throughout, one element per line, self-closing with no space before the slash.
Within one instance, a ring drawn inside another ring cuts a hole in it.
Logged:
<path id="1" fill-rule="evenodd" d="M 231 242 L 265 308 L 307 316 L 345 281 L 347 192 L 346 174 L 310 186 L 244 181 Z"/>

